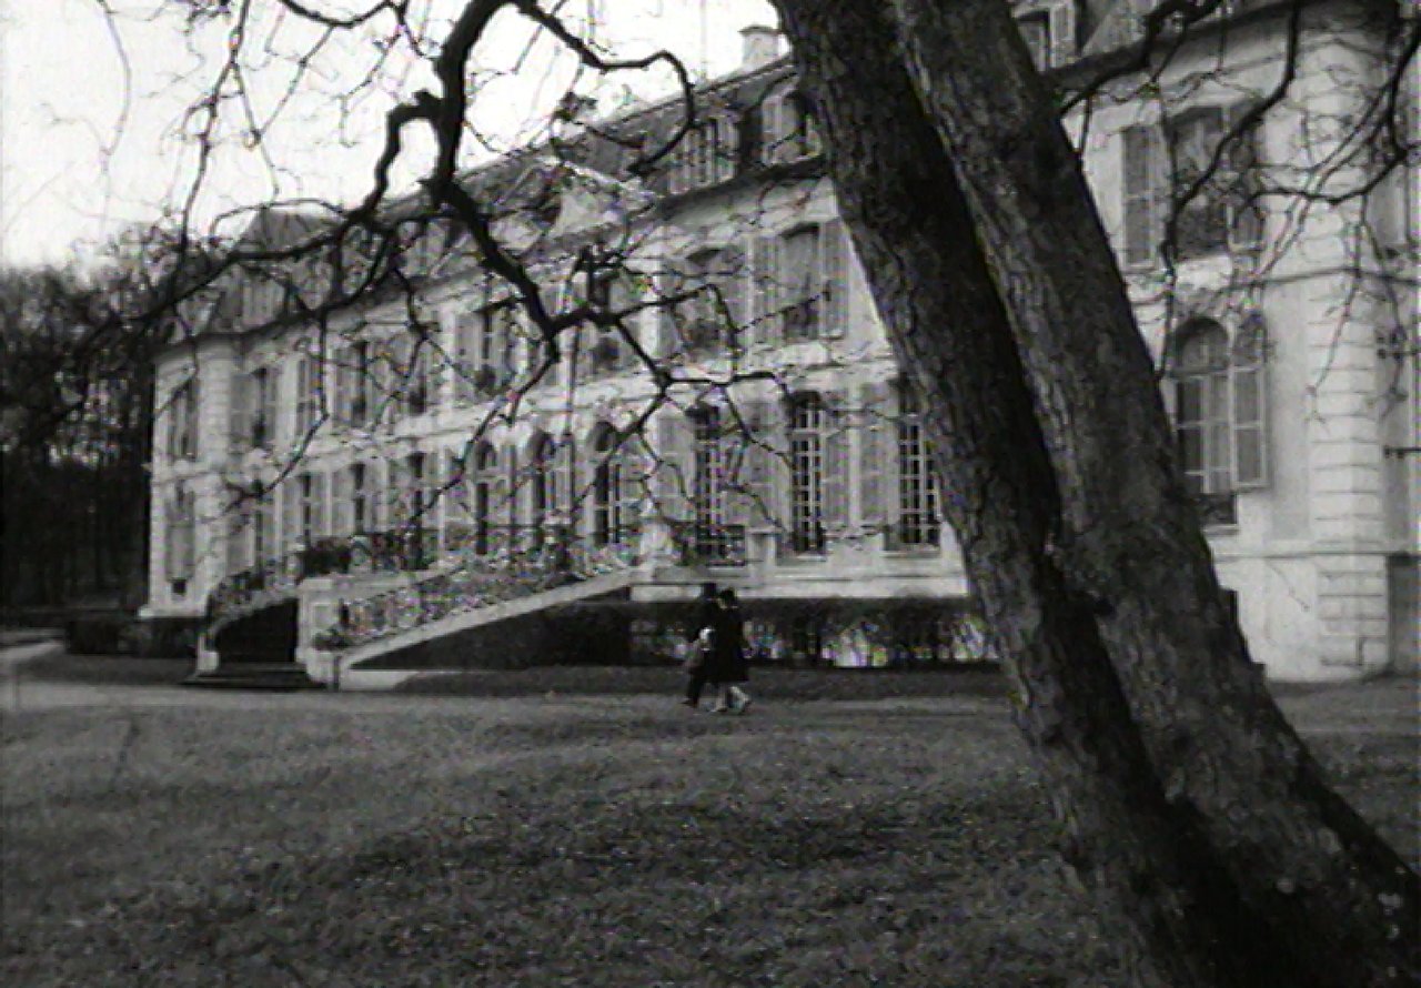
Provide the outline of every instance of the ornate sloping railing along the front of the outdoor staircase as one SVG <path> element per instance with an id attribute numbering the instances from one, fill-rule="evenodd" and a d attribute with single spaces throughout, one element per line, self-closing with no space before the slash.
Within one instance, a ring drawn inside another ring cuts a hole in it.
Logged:
<path id="1" fill-rule="evenodd" d="M 340 621 L 313 638 L 325 650 L 342 650 L 398 634 L 456 613 L 476 611 L 556 587 L 628 570 L 637 564 L 631 546 L 593 546 L 567 529 L 504 532 L 496 552 L 463 549 L 453 563 L 408 586 L 365 600 L 347 601 Z M 487 542 L 479 542 L 480 549 Z"/>

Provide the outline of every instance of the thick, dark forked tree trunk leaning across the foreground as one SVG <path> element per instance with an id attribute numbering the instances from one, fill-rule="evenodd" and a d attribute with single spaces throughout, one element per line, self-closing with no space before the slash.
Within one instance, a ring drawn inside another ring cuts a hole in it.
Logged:
<path id="1" fill-rule="evenodd" d="M 1272 702 L 1000 0 L 779 0 L 1066 859 L 1138 984 L 1421 984 L 1421 880 Z"/>

